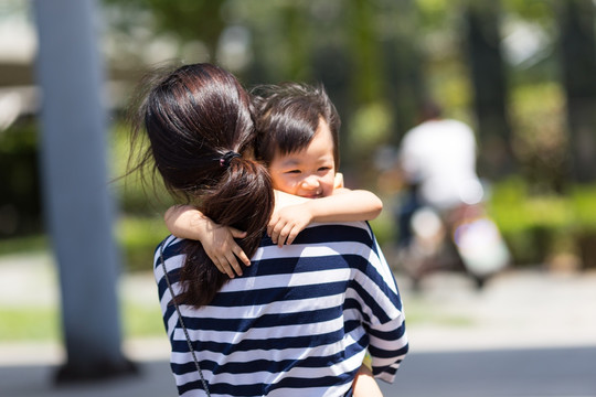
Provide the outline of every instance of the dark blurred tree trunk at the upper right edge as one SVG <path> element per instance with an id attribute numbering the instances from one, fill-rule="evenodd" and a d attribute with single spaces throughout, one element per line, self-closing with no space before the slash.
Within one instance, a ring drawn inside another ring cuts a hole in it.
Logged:
<path id="1" fill-rule="evenodd" d="M 560 11 L 572 178 L 596 180 L 596 36 L 592 0 L 567 0 Z"/>

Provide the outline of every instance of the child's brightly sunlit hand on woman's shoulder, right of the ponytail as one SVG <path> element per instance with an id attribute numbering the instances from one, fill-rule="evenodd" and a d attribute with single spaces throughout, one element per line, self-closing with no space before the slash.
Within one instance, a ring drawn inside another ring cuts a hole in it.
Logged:
<path id="1" fill-rule="evenodd" d="M 307 205 L 290 205 L 275 211 L 267 225 L 267 235 L 279 247 L 291 244 L 298 233 L 312 222 L 312 214 Z"/>

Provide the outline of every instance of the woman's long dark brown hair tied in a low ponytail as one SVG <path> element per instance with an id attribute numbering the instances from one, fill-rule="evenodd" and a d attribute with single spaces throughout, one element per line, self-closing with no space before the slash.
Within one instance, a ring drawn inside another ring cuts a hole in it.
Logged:
<path id="1" fill-rule="evenodd" d="M 274 196 L 267 170 L 253 160 L 251 96 L 232 74 L 211 64 L 185 65 L 164 76 L 161 72 L 148 82 L 148 94 L 135 107 L 132 146 L 143 132 L 150 144 L 136 169 L 152 163 L 153 174 L 161 174 L 172 195 L 220 225 L 247 232 L 238 245 L 252 256 Z M 228 278 L 199 242 L 184 240 L 182 249 L 183 292 L 177 299 L 207 304 Z"/>

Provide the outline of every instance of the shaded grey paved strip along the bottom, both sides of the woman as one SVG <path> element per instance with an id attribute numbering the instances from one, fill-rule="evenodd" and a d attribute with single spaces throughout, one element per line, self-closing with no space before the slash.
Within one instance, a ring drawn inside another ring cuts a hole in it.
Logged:
<path id="1" fill-rule="evenodd" d="M 0 368 L 3 397 L 175 396 L 167 361 L 139 363 L 140 374 L 52 387 L 51 366 Z M 596 347 L 413 353 L 385 397 L 594 397 Z"/>

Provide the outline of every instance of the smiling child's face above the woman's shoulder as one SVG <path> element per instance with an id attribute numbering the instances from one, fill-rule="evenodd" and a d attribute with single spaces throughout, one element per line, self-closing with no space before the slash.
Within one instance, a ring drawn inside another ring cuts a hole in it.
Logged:
<path id="1" fill-rule="evenodd" d="M 280 154 L 276 151 L 269 173 L 274 187 L 301 197 L 331 195 L 336 178 L 333 138 L 324 120 L 319 121 L 315 137 L 304 150 Z"/>

